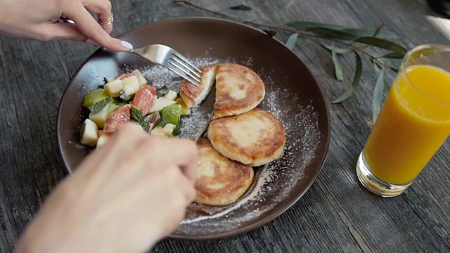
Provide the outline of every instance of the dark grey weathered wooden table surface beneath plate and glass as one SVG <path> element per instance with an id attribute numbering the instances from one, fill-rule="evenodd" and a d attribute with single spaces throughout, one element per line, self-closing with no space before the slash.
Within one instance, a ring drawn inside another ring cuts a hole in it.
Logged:
<path id="1" fill-rule="evenodd" d="M 113 0 L 114 35 L 167 18 L 209 14 L 169 0 Z M 419 0 L 193 0 L 273 24 L 292 20 L 375 28 L 385 22 L 400 43 L 450 44 L 450 21 Z M 285 41 L 289 34 L 278 33 Z M 72 74 L 96 48 L 71 41 L 41 43 L 0 36 L 0 252 L 11 252 L 46 195 L 63 179 L 56 147 L 56 112 Z M 354 57 L 342 59 L 345 82 L 334 78 L 330 53 L 300 37 L 295 52 L 319 80 L 328 100 L 352 81 Z M 364 59 L 361 86 L 345 103 L 330 105 L 331 143 L 321 174 L 287 212 L 255 231 L 210 242 L 163 240 L 153 252 L 450 252 L 450 143 L 411 188 L 393 198 L 364 189 L 355 164 L 371 131 L 376 76 Z M 392 76 L 388 77 L 392 81 Z"/>

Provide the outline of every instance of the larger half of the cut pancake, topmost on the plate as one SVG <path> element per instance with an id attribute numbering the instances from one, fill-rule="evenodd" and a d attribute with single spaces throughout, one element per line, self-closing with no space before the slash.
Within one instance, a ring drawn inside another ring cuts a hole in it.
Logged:
<path id="1" fill-rule="evenodd" d="M 213 119 L 248 112 L 261 103 L 264 95 L 264 82 L 248 67 L 219 65 Z"/>

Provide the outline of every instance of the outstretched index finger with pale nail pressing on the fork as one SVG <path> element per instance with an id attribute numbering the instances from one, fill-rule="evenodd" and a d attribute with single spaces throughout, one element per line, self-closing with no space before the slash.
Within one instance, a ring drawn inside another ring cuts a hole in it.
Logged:
<path id="1" fill-rule="evenodd" d="M 131 48 L 126 47 L 128 45 L 122 44 L 120 39 L 110 37 L 110 35 L 103 30 L 103 27 L 92 18 L 91 14 L 84 8 L 82 3 L 74 3 L 69 9 L 70 11 L 68 13 L 63 13 L 63 15 L 67 15 L 68 18 L 73 20 L 77 25 L 78 30 L 86 35 L 86 37 L 89 37 L 89 39 L 112 51 L 131 50 Z"/>

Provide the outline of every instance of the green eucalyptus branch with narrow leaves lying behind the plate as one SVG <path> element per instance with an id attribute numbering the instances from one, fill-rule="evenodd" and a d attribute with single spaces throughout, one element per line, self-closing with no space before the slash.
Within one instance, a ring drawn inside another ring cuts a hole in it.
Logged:
<path id="1" fill-rule="evenodd" d="M 286 41 L 286 45 L 293 49 L 297 38 L 299 35 L 304 37 L 313 37 L 316 39 L 326 39 L 331 42 L 330 45 L 322 44 L 321 45 L 331 51 L 333 65 L 335 65 L 336 79 L 338 81 L 342 81 L 343 79 L 343 70 L 340 65 L 340 61 L 338 60 L 338 54 L 347 54 L 354 53 L 356 60 L 356 69 L 354 74 L 353 82 L 347 91 L 342 93 L 338 98 L 333 100 L 331 103 L 341 103 L 342 101 L 347 100 L 359 85 L 359 81 L 361 79 L 362 72 L 362 63 L 361 57 L 358 53 L 366 55 L 371 62 L 373 63 L 375 74 L 378 76 L 377 84 L 375 85 L 375 91 L 373 93 L 373 120 L 378 116 L 378 112 L 380 111 L 380 103 L 381 98 L 383 97 L 383 80 L 385 68 L 388 67 L 390 70 L 394 72 L 398 72 L 397 68 L 394 66 L 385 63 L 380 60 L 381 58 L 390 58 L 390 59 L 401 59 L 406 54 L 406 48 L 403 46 L 396 44 L 387 39 L 396 39 L 397 35 L 389 32 L 387 30 L 383 30 L 384 23 L 377 27 L 376 30 L 366 29 L 366 28 L 351 28 L 345 27 L 342 25 L 333 25 L 333 24 L 324 24 L 319 22 L 307 22 L 302 20 L 297 20 L 293 22 L 288 22 L 286 24 L 279 25 L 271 25 L 264 24 L 261 22 L 253 22 L 250 20 L 243 20 L 239 18 L 234 18 L 230 15 L 226 15 L 221 13 L 221 11 L 212 11 L 203 6 L 199 6 L 198 4 L 193 4 L 191 1 L 174 1 L 174 3 L 179 5 L 188 5 L 193 8 L 196 8 L 200 11 L 205 11 L 206 13 L 210 13 L 213 15 L 219 15 L 221 18 L 233 20 L 236 22 L 242 22 L 247 25 L 252 25 L 255 27 L 264 27 L 270 30 L 263 30 L 269 36 L 273 37 L 276 34 L 276 31 L 288 32 L 291 33 L 288 41 Z M 243 4 L 239 6 L 232 6 L 226 9 L 232 9 L 236 11 L 250 11 L 252 8 L 249 6 L 245 6 Z M 225 9 L 225 10 L 226 10 Z M 344 45 L 347 48 L 335 48 L 335 44 Z M 371 51 L 366 50 L 368 46 L 375 46 L 376 48 L 385 49 L 390 51 L 383 56 L 375 56 Z M 380 81 L 381 80 L 381 81 Z"/>

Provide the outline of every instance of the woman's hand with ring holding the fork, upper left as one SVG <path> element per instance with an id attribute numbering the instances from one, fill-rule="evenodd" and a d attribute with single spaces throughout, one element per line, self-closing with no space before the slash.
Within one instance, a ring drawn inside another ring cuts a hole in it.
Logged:
<path id="1" fill-rule="evenodd" d="M 109 0 L 2 0 L 0 1 L 0 33 L 23 38 L 51 41 L 70 39 L 105 46 L 113 51 L 129 51 L 131 44 L 110 37 L 113 25 L 100 25 L 92 18 L 111 16 Z M 65 17 L 74 24 L 58 22 Z"/>

